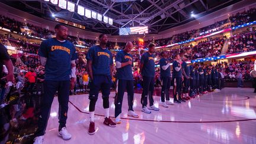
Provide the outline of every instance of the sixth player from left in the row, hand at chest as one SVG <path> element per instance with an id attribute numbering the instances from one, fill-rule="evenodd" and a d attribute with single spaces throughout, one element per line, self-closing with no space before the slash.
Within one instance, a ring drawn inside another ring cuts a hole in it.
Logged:
<path id="1" fill-rule="evenodd" d="M 183 79 L 183 75 L 182 75 L 182 70 L 181 70 L 181 57 L 180 55 L 176 54 L 175 56 L 175 60 L 172 63 L 172 69 L 173 69 L 173 81 L 174 81 L 174 90 L 173 90 L 173 95 L 174 95 L 174 103 L 178 103 L 180 104 L 181 101 L 185 102 L 185 100 L 183 100 L 181 98 L 181 87 L 182 87 L 182 79 Z"/>

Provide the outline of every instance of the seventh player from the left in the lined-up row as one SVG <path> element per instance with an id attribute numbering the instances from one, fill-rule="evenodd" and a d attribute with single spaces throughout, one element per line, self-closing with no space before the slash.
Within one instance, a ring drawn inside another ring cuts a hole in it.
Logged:
<path id="1" fill-rule="evenodd" d="M 190 85 L 190 67 L 187 65 L 186 61 L 188 60 L 187 55 L 183 56 L 183 63 L 181 63 L 182 73 L 184 77 L 184 87 L 183 87 L 183 94 L 184 97 L 189 100 L 188 97 L 188 87 Z"/>

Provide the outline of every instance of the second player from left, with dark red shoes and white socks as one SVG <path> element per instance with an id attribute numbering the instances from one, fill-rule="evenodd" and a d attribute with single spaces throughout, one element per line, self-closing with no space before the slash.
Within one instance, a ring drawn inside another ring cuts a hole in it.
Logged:
<path id="1" fill-rule="evenodd" d="M 110 127 L 116 127 L 109 116 L 109 95 L 111 88 L 111 78 L 113 76 L 113 57 L 110 50 L 107 49 L 107 35 L 100 34 L 99 36 L 100 45 L 93 46 L 87 53 L 87 65 L 89 72 L 89 135 L 94 135 L 95 124 L 94 124 L 94 110 L 95 104 L 98 100 L 98 92 L 101 90 L 103 97 L 103 107 L 105 109 L 105 120 L 104 124 Z"/>

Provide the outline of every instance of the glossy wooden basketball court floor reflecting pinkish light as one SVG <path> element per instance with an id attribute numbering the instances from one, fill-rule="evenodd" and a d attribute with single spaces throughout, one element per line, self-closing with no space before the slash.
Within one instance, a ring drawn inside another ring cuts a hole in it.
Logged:
<path id="1" fill-rule="evenodd" d="M 114 116 L 114 93 L 110 95 L 110 116 Z M 256 143 L 256 94 L 251 88 L 224 88 L 200 98 L 164 108 L 155 96 L 159 111 L 143 113 L 140 94 L 135 94 L 133 108 L 139 118 L 127 117 L 127 95 L 124 95 L 121 124 L 103 124 L 103 101 L 95 108 L 95 135 L 88 135 L 88 94 L 69 98 L 67 129 L 71 140 L 57 137 L 57 98 L 52 110 L 44 143 Z M 172 99 L 171 99 L 172 101 Z M 112 118 L 114 120 L 114 118 Z"/>

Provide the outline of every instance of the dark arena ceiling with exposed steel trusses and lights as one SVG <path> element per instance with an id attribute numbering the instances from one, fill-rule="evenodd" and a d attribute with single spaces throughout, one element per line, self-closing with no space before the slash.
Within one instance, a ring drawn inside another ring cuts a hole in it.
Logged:
<path id="1" fill-rule="evenodd" d="M 41 18 L 56 17 L 85 25 L 89 31 L 117 35 L 121 27 L 148 26 L 149 33 L 158 33 L 210 14 L 239 0 L 69 0 L 92 11 L 113 18 L 113 25 L 61 9 L 43 0 L 1 0 L 4 4 Z M 240 0 L 241 1 L 241 0 Z"/>

